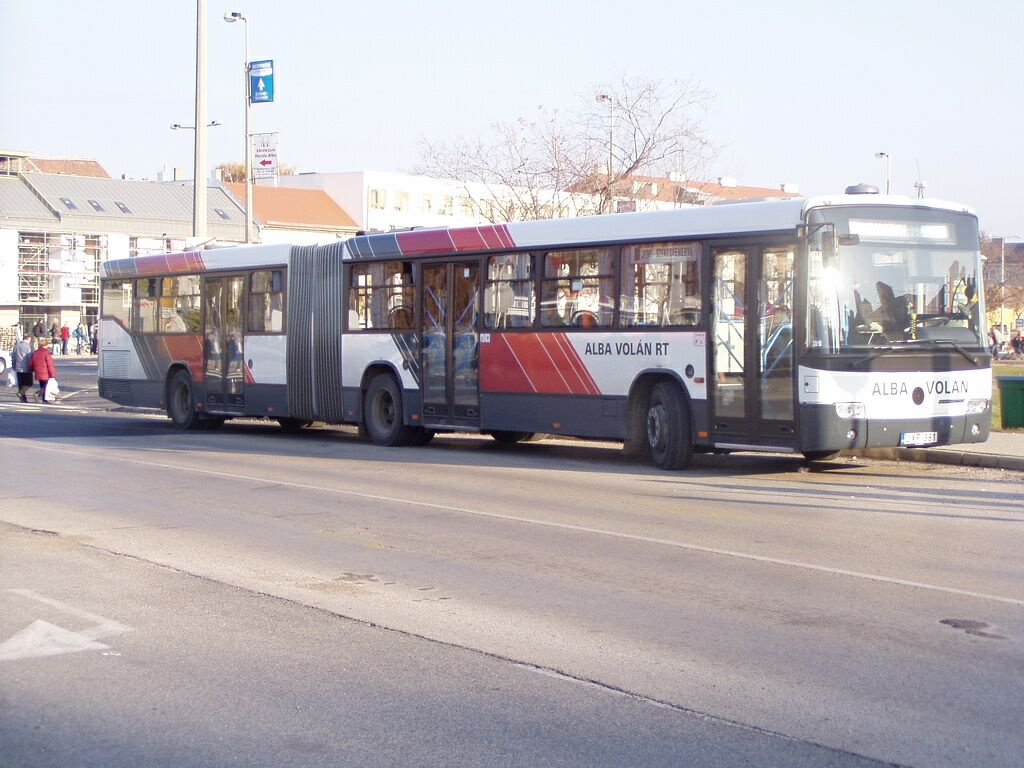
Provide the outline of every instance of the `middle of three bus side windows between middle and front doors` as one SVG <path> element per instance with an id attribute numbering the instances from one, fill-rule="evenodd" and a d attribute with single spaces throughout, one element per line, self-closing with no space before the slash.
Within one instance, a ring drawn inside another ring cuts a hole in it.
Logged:
<path id="1" fill-rule="evenodd" d="M 605 328 L 614 314 L 614 251 L 580 248 L 544 254 L 541 325 Z"/>

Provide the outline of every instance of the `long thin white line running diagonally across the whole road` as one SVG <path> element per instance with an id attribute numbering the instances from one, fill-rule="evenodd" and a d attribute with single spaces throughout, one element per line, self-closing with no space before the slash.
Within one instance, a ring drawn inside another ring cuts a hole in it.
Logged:
<path id="1" fill-rule="evenodd" d="M 83 456 L 90 459 L 95 458 L 94 454 L 90 454 L 85 451 L 71 451 L 52 445 L 40 445 L 40 444 L 33 444 L 32 447 L 38 449 L 40 451 L 50 451 L 58 454 Z M 388 504 L 402 504 L 410 507 L 421 507 L 423 509 L 438 510 L 441 512 L 453 512 L 456 514 L 472 515 L 475 517 L 486 517 L 494 520 L 517 522 L 524 525 L 541 525 L 544 527 L 555 528 L 558 530 L 571 530 L 580 534 L 591 534 L 593 536 L 608 537 L 611 539 L 620 539 L 631 542 L 640 542 L 643 544 L 656 544 L 664 547 L 673 547 L 675 549 L 686 550 L 688 552 L 700 552 L 708 555 L 718 555 L 720 557 L 733 557 L 739 560 L 749 560 L 752 562 L 765 563 L 768 565 L 779 565 L 787 568 L 800 568 L 803 570 L 811 570 L 818 573 L 828 573 L 829 575 L 842 575 L 842 577 L 848 577 L 850 579 L 860 579 L 867 582 L 876 582 L 879 584 L 890 584 L 899 587 L 911 587 L 913 589 L 928 590 L 930 592 L 940 592 L 947 595 L 959 595 L 962 597 L 976 597 L 982 600 L 992 600 L 994 602 L 1007 603 L 1009 605 L 1024 606 L 1024 599 L 1020 598 L 1005 597 L 1002 595 L 989 595 L 984 592 L 974 592 L 972 590 L 963 590 L 963 589 L 957 589 L 955 587 L 943 587 L 937 584 L 928 584 L 926 582 L 914 582 L 907 579 L 896 579 L 894 577 L 886 577 L 886 575 L 881 575 L 879 573 L 865 573 L 858 570 L 834 568 L 828 565 L 818 565 L 815 563 L 801 562 L 799 560 L 787 560 L 778 557 L 755 555 L 750 552 L 738 552 L 736 550 L 718 549 L 716 547 L 705 547 L 699 544 L 680 542 L 672 539 L 659 539 L 656 537 L 641 536 L 639 534 L 626 534 L 617 530 L 595 528 L 589 525 L 575 525 L 573 523 L 566 523 L 566 522 L 538 520 L 536 518 L 522 517 L 520 515 L 506 515 L 500 512 L 486 512 L 484 510 L 470 509 L 468 507 L 454 507 L 446 504 L 434 504 L 432 502 L 424 502 L 416 499 L 401 499 L 398 497 L 383 496 L 380 494 L 364 494 L 358 490 L 344 490 L 341 488 L 326 487 L 324 485 L 310 485 L 308 483 L 303 483 L 303 482 L 292 482 L 289 480 L 270 480 L 267 479 L 266 477 L 234 474 L 231 472 L 219 472 L 214 469 L 181 467 L 175 464 L 150 462 L 150 461 L 143 461 L 141 459 L 125 459 L 121 457 L 109 457 L 109 456 L 104 456 L 103 458 L 109 461 L 122 462 L 124 464 L 136 464 L 138 466 L 152 467 L 154 469 L 164 469 L 164 470 L 169 469 L 169 470 L 176 470 L 178 472 L 189 472 L 193 474 L 208 475 L 210 477 L 225 477 L 232 480 L 244 480 L 246 482 L 258 482 L 261 484 L 281 485 L 283 487 L 293 487 L 301 490 L 314 490 L 321 494 L 333 494 L 335 496 L 345 496 L 353 499 L 370 499 L 373 501 L 386 502 Z"/>

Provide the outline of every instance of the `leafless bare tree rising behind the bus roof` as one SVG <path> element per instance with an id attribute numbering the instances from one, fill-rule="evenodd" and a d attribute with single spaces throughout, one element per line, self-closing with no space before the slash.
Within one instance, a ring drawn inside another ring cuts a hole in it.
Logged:
<path id="1" fill-rule="evenodd" d="M 638 175 L 692 178 L 703 166 L 712 147 L 693 113 L 708 100 L 690 81 L 623 80 L 571 115 L 542 106 L 485 137 L 421 139 L 414 172 L 455 180 L 464 205 L 493 222 L 611 211 Z"/>

